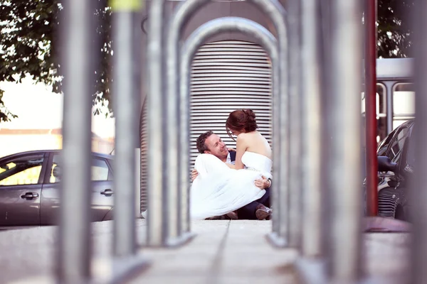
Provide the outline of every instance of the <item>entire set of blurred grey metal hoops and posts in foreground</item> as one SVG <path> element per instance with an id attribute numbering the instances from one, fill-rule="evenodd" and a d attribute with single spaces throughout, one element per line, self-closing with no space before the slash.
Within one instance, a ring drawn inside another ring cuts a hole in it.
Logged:
<path id="1" fill-rule="evenodd" d="M 113 8 L 115 70 L 115 221 L 113 278 L 147 263 L 135 241 L 135 160 L 139 80 L 135 40 L 139 1 Z M 178 246 L 191 236 L 189 202 L 189 96 L 196 50 L 218 33 L 244 33 L 267 50 L 273 64 L 273 229 L 275 246 L 297 247 L 303 275 L 317 268 L 325 283 L 357 283 L 362 278 L 362 178 L 360 173 L 360 89 L 362 11 L 358 0 L 289 0 L 288 14 L 276 0 L 248 0 L 274 23 L 278 38 L 254 21 L 217 18 L 196 29 L 181 45 L 189 18 L 209 0 L 187 0 L 164 20 L 165 0 L 152 0 L 148 53 L 147 245 Z M 427 13 L 418 1 L 418 26 Z M 63 26 L 65 102 L 63 182 L 57 278 L 84 283 L 92 278 L 90 245 L 90 80 L 99 57 L 91 41 L 97 1 L 66 5 Z M 126 3 L 126 4 L 123 4 Z M 424 12 L 424 13 L 423 13 Z M 289 28 L 289 33 L 288 33 Z M 417 45 L 418 153 L 427 143 L 427 29 Z M 137 38 L 137 37 L 136 37 Z M 304 84 L 302 84 L 304 77 Z M 167 80 L 164 80 L 166 78 Z M 69 95 L 72 94 L 72 95 Z M 166 104 L 164 104 L 166 102 Z M 295 109 L 294 109 L 295 108 Z M 298 111 L 305 115 L 297 115 Z M 293 116 L 292 116 L 293 115 Z M 291 121 L 292 116 L 292 121 Z M 293 121 L 295 119 L 295 121 Z M 295 124 L 295 125 L 294 125 Z M 295 152 L 294 152 L 295 151 Z M 292 153 L 292 155 L 291 155 Z M 419 156 L 418 173 L 427 170 Z M 300 163 L 298 163 L 300 162 Z M 294 176 L 295 175 L 295 176 Z M 292 182 L 290 180 L 293 180 Z M 426 283 L 426 175 L 413 186 L 416 202 L 413 283 Z M 292 187 L 292 188 L 291 188 Z M 310 273 L 307 273 L 310 274 Z M 310 280 L 310 278 L 307 278 Z"/>

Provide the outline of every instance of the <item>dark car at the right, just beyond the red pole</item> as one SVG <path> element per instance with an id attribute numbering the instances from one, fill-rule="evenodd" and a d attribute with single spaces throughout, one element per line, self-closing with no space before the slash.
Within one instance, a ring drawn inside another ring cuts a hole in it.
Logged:
<path id="1" fill-rule="evenodd" d="M 381 217 L 410 221 L 408 180 L 413 175 L 413 119 L 389 133 L 379 144 L 378 210 Z M 412 139 L 411 139 L 412 138 Z"/>

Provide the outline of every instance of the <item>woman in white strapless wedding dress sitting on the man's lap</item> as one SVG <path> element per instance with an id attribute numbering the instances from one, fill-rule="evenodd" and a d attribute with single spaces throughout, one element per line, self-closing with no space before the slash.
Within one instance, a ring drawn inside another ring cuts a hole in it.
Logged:
<path id="1" fill-rule="evenodd" d="M 223 163 L 209 151 L 194 165 L 198 175 L 191 186 L 191 219 L 221 216 L 260 199 L 265 190 L 255 180 L 271 178 L 271 148 L 256 130 L 251 109 L 231 112 L 226 121 L 228 136 L 237 136 L 235 165 Z"/>

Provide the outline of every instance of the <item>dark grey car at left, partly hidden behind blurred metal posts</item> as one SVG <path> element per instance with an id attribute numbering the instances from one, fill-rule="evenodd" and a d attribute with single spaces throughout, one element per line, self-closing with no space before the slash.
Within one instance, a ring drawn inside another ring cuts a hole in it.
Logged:
<path id="1" fill-rule="evenodd" d="M 60 151 L 0 158 L 0 226 L 58 224 Z M 112 155 L 92 153 L 92 219 L 111 219 Z"/>

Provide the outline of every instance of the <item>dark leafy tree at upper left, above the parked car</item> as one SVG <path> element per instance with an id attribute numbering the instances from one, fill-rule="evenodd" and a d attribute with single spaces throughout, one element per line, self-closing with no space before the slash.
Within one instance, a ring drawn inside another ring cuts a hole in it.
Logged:
<path id="1" fill-rule="evenodd" d="M 110 40 L 111 10 L 106 0 L 100 1 L 95 14 L 100 18 L 97 35 L 102 44 L 102 60 L 97 66 L 93 104 L 110 100 Z M 21 82 L 30 75 L 36 82 L 53 86 L 53 92 L 61 92 L 63 82 L 58 58 L 58 28 L 63 6 L 58 0 L 0 0 L 0 81 Z M 66 78 L 64 78 L 66 80 Z M 0 121 L 16 117 L 6 108 L 0 89 Z M 111 106 L 109 105 L 110 110 Z M 99 114 L 100 109 L 95 109 Z M 106 114 L 108 115 L 108 114 Z"/>

